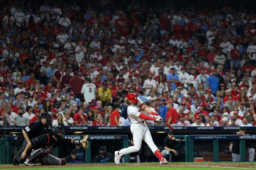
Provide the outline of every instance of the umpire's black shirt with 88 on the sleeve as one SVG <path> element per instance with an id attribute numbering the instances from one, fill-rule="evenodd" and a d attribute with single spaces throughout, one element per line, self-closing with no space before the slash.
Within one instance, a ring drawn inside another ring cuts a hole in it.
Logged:
<path id="1" fill-rule="evenodd" d="M 33 138 L 38 137 L 42 134 L 45 134 L 47 130 L 48 130 L 48 126 L 44 127 L 41 120 L 37 120 L 37 121 L 29 124 L 28 126 L 26 126 L 26 128 L 24 128 L 24 131 L 28 134 L 29 139 L 33 139 Z M 19 137 L 16 140 L 16 145 L 20 145 L 23 142 L 24 139 L 25 138 L 24 138 L 23 133 L 21 131 Z"/>

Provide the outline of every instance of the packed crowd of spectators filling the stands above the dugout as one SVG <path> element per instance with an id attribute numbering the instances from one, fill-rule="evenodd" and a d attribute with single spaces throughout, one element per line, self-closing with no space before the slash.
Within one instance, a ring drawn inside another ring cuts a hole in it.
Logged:
<path id="1" fill-rule="evenodd" d="M 15 2 L 0 10 L 0 126 L 43 112 L 55 125 L 130 126 L 130 92 L 173 126 L 256 125 L 254 11 Z"/>

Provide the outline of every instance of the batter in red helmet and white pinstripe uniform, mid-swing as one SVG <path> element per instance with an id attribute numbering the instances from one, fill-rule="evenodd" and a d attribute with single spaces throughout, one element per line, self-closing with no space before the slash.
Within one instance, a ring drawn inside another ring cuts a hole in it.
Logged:
<path id="1" fill-rule="evenodd" d="M 138 152 L 141 147 L 142 139 L 148 144 L 151 151 L 159 159 L 160 164 L 167 164 L 167 160 L 163 157 L 162 153 L 158 150 L 154 144 L 148 126 L 144 123 L 144 120 L 162 121 L 162 117 L 158 113 L 152 112 L 149 107 L 137 98 L 136 94 L 129 93 L 125 103 L 128 105 L 127 114 L 129 115 L 132 125 L 131 132 L 133 135 L 134 146 L 121 149 L 115 152 L 115 163 L 118 165 L 120 159 L 124 154 Z M 154 117 L 145 115 L 145 112 L 152 114 Z"/>

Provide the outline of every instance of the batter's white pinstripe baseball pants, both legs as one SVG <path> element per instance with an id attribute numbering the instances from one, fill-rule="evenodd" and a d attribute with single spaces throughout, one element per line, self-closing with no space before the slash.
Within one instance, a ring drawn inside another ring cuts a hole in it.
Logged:
<path id="1" fill-rule="evenodd" d="M 134 146 L 121 149 L 119 154 L 122 156 L 124 154 L 133 153 L 140 151 L 142 139 L 148 144 L 151 151 L 154 153 L 158 148 L 153 142 L 148 126 L 145 123 L 132 123 L 131 132 L 133 135 Z"/>

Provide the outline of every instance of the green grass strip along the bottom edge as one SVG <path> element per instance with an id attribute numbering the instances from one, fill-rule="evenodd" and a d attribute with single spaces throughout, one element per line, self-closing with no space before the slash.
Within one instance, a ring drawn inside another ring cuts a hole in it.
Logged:
<path id="1" fill-rule="evenodd" d="M 220 168 L 203 168 L 203 167 L 166 167 L 166 166 L 159 166 L 159 167 L 127 167 L 127 166 L 116 166 L 116 167 L 76 167 L 76 170 L 156 170 L 157 169 L 161 169 L 161 170 L 203 170 L 203 169 L 207 169 L 207 170 L 220 170 Z M 17 168 L 17 169 L 8 169 L 8 170 L 31 170 L 32 168 Z M 45 168 L 35 168 L 36 170 L 45 170 Z M 70 170 L 70 168 L 66 167 L 66 168 L 54 168 L 57 170 Z M 224 169 L 224 168 L 221 168 Z M 230 169 L 230 168 L 227 168 Z M 232 170 L 241 170 L 238 168 L 232 168 Z"/>

